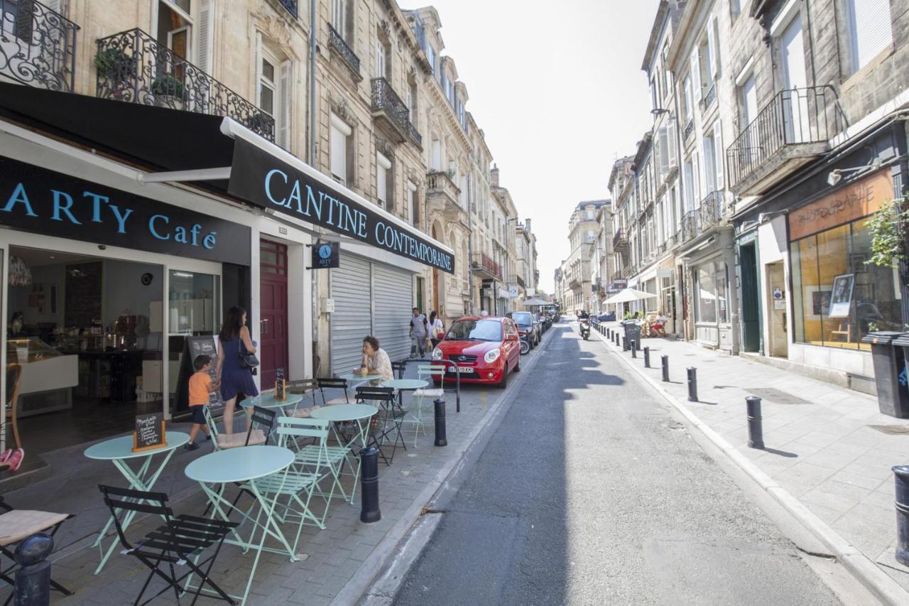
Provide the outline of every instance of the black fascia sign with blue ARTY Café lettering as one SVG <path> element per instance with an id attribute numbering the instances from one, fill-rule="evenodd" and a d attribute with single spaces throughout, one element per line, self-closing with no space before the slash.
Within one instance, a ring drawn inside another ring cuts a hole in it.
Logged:
<path id="1" fill-rule="evenodd" d="M 0 157 L 0 225 L 240 265 L 250 228 Z"/>

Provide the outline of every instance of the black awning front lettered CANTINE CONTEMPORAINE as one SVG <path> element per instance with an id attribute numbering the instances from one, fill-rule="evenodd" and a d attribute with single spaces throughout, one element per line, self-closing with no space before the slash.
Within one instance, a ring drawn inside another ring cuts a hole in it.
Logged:
<path id="1" fill-rule="evenodd" d="M 234 145 L 228 193 L 258 207 L 304 219 L 395 255 L 454 273 L 453 255 L 415 231 L 400 227 L 243 139 Z"/>

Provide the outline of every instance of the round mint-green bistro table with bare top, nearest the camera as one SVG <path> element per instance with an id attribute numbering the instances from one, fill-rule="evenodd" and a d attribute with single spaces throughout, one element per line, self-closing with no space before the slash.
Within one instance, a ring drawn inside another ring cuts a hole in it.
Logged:
<path id="1" fill-rule="evenodd" d="M 249 588 L 253 584 L 253 577 L 255 577 L 255 569 L 259 565 L 259 558 L 262 556 L 263 551 L 286 554 L 290 556 L 290 561 L 297 560 L 293 548 L 285 539 L 284 533 L 278 526 L 277 520 L 275 520 L 275 505 L 280 490 L 275 491 L 275 498 L 269 501 L 255 485 L 255 480 L 282 470 L 285 471 L 286 477 L 286 470 L 293 462 L 294 452 L 290 449 L 280 446 L 244 446 L 238 449 L 216 450 L 206 454 L 204 457 L 199 457 L 186 466 L 186 477 L 199 482 L 202 490 L 205 491 L 205 496 L 211 502 L 213 518 L 215 515 L 220 515 L 222 519 L 228 520 L 228 516 L 223 509 L 226 507 L 229 510 L 237 511 L 245 519 L 244 521 L 252 522 L 252 530 L 248 539 L 243 539 L 239 534 L 239 530 L 243 528 L 243 522 L 241 522 L 240 527 L 233 530 L 235 539 L 225 539 L 225 543 L 242 547 L 244 552 L 251 549 L 255 550 L 253 568 L 249 571 L 249 580 L 246 581 L 246 589 L 243 592 L 243 596 L 231 596 L 239 600 L 241 604 L 245 603 L 246 597 L 249 595 Z M 248 489 L 255 497 L 258 508 L 250 508 L 247 511 L 235 509 L 230 500 L 225 499 L 225 486 L 235 483 L 244 484 L 244 488 Z M 215 486 L 218 488 L 213 488 Z M 282 481 L 281 486 L 282 488 L 284 487 L 284 481 Z M 255 518 L 252 515 L 254 509 L 257 509 Z M 265 518 L 264 521 L 262 521 L 263 517 Z M 256 543 L 255 534 L 258 530 L 262 530 L 262 536 Z M 265 547 L 265 537 L 267 536 L 278 540 L 284 546 L 284 549 Z"/>

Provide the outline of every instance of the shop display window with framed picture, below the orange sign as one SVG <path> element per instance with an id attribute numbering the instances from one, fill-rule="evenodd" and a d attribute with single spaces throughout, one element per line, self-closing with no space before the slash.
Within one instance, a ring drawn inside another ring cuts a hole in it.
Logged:
<path id="1" fill-rule="evenodd" d="M 795 342 L 867 349 L 864 334 L 903 329 L 896 268 L 866 263 L 871 258 L 867 220 L 790 244 Z"/>

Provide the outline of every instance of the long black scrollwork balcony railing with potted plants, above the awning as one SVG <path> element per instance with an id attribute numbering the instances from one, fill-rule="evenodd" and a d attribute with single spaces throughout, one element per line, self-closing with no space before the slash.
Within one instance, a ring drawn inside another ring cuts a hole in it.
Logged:
<path id="1" fill-rule="evenodd" d="M 97 45 L 97 96 L 227 116 L 275 140 L 275 118 L 141 29 L 100 38 Z"/>

